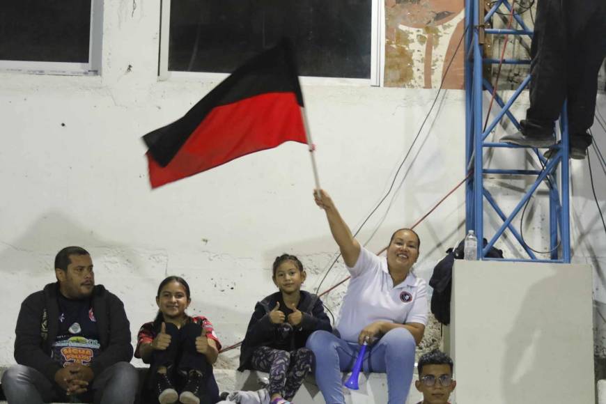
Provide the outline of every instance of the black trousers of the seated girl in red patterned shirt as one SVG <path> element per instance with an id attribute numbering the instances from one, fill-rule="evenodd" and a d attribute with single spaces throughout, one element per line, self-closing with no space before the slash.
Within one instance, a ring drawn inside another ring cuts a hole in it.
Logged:
<path id="1" fill-rule="evenodd" d="M 180 329 L 171 323 L 166 323 L 166 334 L 171 336 L 171 344 L 166 350 L 155 350 L 152 353 L 150 366 L 150 389 L 153 387 L 153 377 L 160 366 L 169 368 L 173 384 L 178 391 L 187 382 L 187 372 L 190 370 L 201 371 L 203 378 L 200 391 L 204 394 L 201 403 L 217 403 L 219 401 L 219 387 L 212 374 L 212 365 L 206 357 L 196 351 L 196 338 L 201 335 L 202 327 L 199 324 L 190 323 Z M 153 389 L 152 389 L 153 390 Z"/>

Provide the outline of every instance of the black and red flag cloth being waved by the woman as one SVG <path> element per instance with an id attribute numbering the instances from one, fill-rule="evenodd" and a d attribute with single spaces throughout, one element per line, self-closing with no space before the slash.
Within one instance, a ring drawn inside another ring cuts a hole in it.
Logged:
<path id="1" fill-rule="evenodd" d="M 285 141 L 306 143 L 289 42 L 259 54 L 187 114 L 143 136 L 153 188 Z"/>

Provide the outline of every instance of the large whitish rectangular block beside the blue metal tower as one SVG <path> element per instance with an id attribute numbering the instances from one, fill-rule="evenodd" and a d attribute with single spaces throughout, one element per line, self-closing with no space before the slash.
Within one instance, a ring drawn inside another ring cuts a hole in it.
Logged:
<path id="1" fill-rule="evenodd" d="M 589 265 L 455 261 L 455 403 L 593 404 Z"/>

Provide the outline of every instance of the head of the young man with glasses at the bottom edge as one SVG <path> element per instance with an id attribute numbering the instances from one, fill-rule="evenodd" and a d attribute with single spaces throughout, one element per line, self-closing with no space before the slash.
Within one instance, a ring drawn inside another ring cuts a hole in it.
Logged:
<path id="1" fill-rule="evenodd" d="M 448 398 L 456 387 L 453 380 L 452 359 L 444 352 L 433 350 L 419 358 L 419 380 L 414 382 L 423 393 L 423 401 L 417 404 L 449 404 Z"/>

